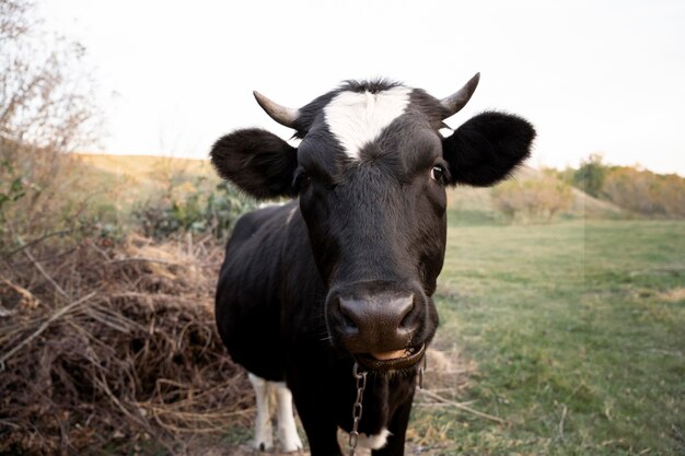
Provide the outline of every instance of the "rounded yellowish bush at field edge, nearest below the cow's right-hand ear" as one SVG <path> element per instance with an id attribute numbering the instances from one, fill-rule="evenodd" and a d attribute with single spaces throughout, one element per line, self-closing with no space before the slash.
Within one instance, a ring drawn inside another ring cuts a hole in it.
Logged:
<path id="1" fill-rule="evenodd" d="M 549 221 L 571 201 L 571 188 L 549 173 L 508 180 L 492 189 L 495 207 L 511 219 Z"/>

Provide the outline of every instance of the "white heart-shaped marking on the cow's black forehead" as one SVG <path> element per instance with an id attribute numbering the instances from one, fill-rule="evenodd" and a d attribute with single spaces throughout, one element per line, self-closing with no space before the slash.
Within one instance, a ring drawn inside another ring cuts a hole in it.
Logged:
<path id="1" fill-rule="evenodd" d="M 361 148 L 404 114 L 410 94 L 411 89 L 403 86 L 379 93 L 340 92 L 324 108 L 326 124 L 347 156 L 359 160 Z"/>

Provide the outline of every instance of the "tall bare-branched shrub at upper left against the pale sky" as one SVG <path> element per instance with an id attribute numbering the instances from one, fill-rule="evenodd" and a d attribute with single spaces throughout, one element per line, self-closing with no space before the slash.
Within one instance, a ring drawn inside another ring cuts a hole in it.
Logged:
<path id="1" fill-rule="evenodd" d="M 85 49 L 47 33 L 33 3 L 0 0 L 0 250 L 79 220 L 69 152 L 98 133 Z"/>

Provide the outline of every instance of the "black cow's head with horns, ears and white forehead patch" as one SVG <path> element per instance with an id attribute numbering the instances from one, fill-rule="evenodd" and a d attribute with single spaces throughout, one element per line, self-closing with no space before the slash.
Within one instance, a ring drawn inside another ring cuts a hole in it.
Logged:
<path id="1" fill-rule="evenodd" d="M 246 129 L 211 151 L 219 174 L 244 191 L 299 198 L 328 287 L 330 340 L 372 370 L 415 365 L 434 335 L 445 188 L 492 185 L 530 154 L 535 131 L 512 115 L 480 114 L 441 136 L 477 83 L 478 74 L 437 100 L 396 83 L 347 82 L 299 109 L 255 92 L 299 145 Z"/>

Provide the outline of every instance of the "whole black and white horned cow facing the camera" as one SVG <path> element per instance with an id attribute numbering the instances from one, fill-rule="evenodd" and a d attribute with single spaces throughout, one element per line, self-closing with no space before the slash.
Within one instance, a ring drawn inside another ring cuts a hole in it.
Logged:
<path id="1" fill-rule="evenodd" d="M 297 145 L 258 128 L 213 144 L 221 177 L 260 200 L 289 199 L 239 219 L 216 295 L 219 334 L 255 389 L 257 448 L 274 446 L 275 396 L 285 452 L 302 448 L 294 400 L 312 456 L 341 454 L 338 429 L 352 434 L 352 453 L 404 454 L 438 326 L 446 187 L 506 178 L 535 137 L 501 112 L 443 135 L 478 81 L 442 100 L 388 80 L 347 81 L 300 108 L 254 92 Z"/>

